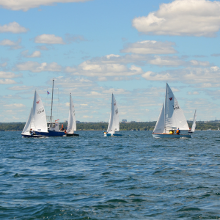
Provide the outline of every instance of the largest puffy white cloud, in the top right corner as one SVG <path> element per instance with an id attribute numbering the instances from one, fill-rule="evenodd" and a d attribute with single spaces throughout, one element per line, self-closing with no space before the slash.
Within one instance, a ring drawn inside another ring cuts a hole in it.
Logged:
<path id="1" fill-rule="evenodd" d="M 133 27 L 145 34 L 212 37 L 220 29 L 220 2 L 175 0 L 164 3 L 158 11 L 134 18 Z"/>

